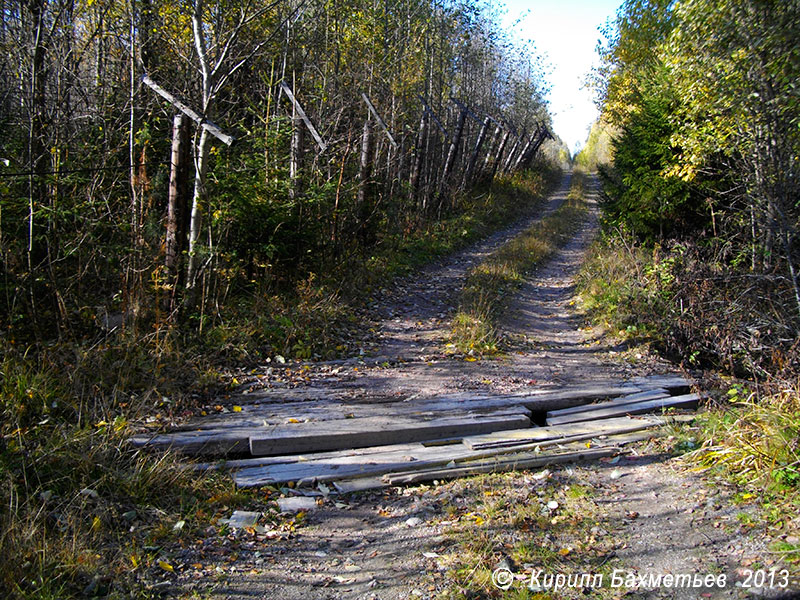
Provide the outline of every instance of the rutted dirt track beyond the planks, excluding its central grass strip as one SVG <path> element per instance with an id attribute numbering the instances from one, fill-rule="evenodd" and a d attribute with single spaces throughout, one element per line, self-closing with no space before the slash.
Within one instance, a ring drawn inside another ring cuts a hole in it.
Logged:
<path id="1" fill-rule="evenodd" d="M 244 389 L 276 399 L 291 389 L 296 398 L 368 402 L 474 391 L 524 392 L 532 387 L 607 383 L 638 374 L 618 360 L 619 348 L 606 345 L 602 336 L 587 328 L 585 317 L 572 305 L 574 279 L 598 227 L 595 179 L 587 190 L 589 218 L 528 278 L 505 313 L 501 330 L 519 342 L 515 344 L 519 349 L 475 361 L 447 348 L 466 273 L 561 206 L 570 182 L 570 175 L 565 175 L 535 214 L 382 291 L 367 317 L 374 325 L 363 342 L 363 356 L 308 363 L 302 367 L 302 377 L 289 382 L 285 370 L 266 368 L 266 374 L 245 379 Z"/>

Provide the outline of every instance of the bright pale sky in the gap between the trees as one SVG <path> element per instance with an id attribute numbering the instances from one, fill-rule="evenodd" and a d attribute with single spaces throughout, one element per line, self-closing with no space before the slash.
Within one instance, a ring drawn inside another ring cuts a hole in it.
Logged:
<path id="1" fill-rule="evenodd" d="M 503 0 L 504 25 L 533 40 L 551 65 L 548 96 L 555 133 L 572 152 L 583 146 L 597 109 L 583 80 L 596 64 L 599 27 L 616 15 L 622 0 Z"/>

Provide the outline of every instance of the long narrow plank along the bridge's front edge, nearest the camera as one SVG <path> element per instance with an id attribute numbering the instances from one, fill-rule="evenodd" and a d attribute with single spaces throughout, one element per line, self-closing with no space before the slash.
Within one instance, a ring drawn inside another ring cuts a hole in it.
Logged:
<path id="1" fill-rule="evenodd" d="M 500 473 L 516 471 L 518 469 L 535 469 L 548 465 L 563 464 L 586 460 L 596 460 L 619 454 L 619 448 L 584 449 L 562 454 L 549 454 L 534 458 L 512 458 L 504 460 L 487 461 L 482 464 L 469 466 L 456 466 L 444 469 L 425 469 L 421 471 L 407 471 L 404 473 L 390 473 L 384 476 L 384 481 L 389 485 L 407 485 L 433 479 L 455 479 L 480 473 Z"/>

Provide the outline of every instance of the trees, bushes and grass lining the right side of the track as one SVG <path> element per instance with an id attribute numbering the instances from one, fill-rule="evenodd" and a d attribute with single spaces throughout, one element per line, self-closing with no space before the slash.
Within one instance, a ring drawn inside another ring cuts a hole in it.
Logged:
<path id="1" fill-rule="evenodd" d="M 800 560 L 800 4 L 629 0 L 579 164 L 603 180 L 586 308 L 719 390 L 691 446 Z M 600 132 L 612 139 L 601 151 Z"/>

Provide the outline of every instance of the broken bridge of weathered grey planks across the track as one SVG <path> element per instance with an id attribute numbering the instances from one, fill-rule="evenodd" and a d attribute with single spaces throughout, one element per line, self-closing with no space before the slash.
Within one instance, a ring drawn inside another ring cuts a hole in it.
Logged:
<path id="1" fill-rule="evenodd" d="M 477 473 L 594 460 L 653 435 L 665 412 L 703 396 L 678 375 L 525 394 L 392 402 L 248 398 L 133 446 L 227 469 L 240 487 L 332 484 L 342 493 Z"/>

